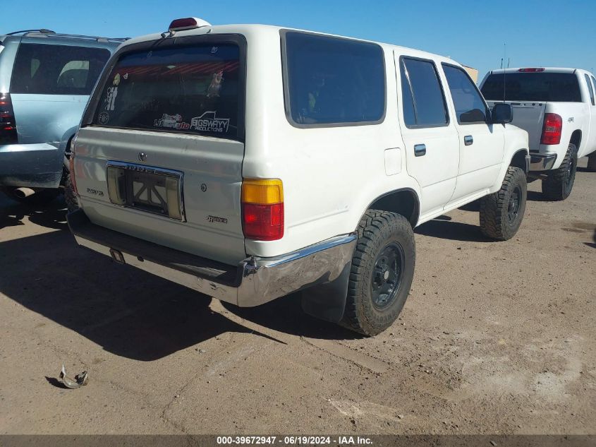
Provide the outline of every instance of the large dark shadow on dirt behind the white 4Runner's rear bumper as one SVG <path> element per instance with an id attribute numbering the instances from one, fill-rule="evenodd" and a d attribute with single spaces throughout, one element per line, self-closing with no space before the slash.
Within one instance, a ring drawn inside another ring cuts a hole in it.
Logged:
<path id="1" fill-rule="evenodd" d="M 205 294 L 78 247 L 68 230 L 0 242 L 0 269 L 6 297 L 121 357 L 149 362 L 229 332 L 281 342 L 212 311 Z M 357 336 L 304 314 L 296 295 L 227 309 L 283 333 Z"/>

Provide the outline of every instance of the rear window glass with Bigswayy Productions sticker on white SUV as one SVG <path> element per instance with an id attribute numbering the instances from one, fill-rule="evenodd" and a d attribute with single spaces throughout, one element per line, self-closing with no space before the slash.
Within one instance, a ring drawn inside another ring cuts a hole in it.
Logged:
<path id="1" fill-rule="evenodd" d="M 232 43 L 125 53 L 92 124 L 236 138 L 239 72 L 240 49 Z"/>

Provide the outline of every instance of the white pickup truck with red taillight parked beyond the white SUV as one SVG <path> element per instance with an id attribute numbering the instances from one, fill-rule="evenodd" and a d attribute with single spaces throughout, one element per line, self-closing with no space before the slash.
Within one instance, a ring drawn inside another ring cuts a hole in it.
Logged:
<path id="1" fill-rule="evenodd" d="M 489 105 L 513 107 L 513 123 L 528 131 L 530 178 L 542 193 L 564 200 L 573 189 L 578 158 L 596 172 L 596 78 L 579 68 L 507 68 L 480 84 Z"/>

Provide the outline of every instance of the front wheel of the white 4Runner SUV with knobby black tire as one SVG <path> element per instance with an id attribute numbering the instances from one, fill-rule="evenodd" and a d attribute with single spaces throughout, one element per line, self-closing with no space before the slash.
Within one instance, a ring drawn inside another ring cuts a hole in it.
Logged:
<path id="1" fill-rule="evenodd" d="M 482 233 L 497 241 L 515 236 L 523 220 L 527 191 L 523 170 L 509 167 L 501 189 L 480 199 Z"/>

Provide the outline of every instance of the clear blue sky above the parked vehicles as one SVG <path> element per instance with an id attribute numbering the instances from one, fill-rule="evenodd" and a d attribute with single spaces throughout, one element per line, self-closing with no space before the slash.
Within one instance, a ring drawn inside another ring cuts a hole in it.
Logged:
<path id="1" fill-rule="evenodd" d="M 26 6 L 26 7 L 25 7 Z M 499 68 L 596 68 L 595 0 L 17 0 L 4 1 L 0 33 L 28 28 L 134 37 L 164 31 L 174 18 L 266 23 L 399 44 Z"/>

